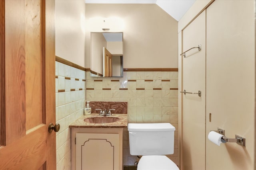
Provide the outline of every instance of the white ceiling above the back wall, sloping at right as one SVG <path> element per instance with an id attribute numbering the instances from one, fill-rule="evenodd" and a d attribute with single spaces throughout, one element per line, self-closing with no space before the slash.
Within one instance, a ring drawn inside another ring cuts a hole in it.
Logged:
<path id="1" fill-rule="evenodd" d="M 92 4 L 157 4 L 179 21 L 196 0 L 85 0 Z"/>

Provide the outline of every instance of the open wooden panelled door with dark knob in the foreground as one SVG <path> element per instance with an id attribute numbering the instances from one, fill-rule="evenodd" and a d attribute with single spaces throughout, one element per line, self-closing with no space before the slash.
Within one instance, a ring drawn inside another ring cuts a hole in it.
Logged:
<path id="1" fill-rule="evenodd" d="M 54 1 L 1 0 L 0 8 L 0 169 L 54 170 Z"/>

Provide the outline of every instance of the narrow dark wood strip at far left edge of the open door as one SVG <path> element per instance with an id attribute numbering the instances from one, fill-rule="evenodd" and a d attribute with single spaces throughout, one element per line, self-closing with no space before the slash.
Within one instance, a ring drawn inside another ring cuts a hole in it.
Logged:
<path id="1" fill-rule="evenodd" d="M 5 36 L 4 36 L 4 0 L 0 1 L 0 146 L 5 145 Z"/>

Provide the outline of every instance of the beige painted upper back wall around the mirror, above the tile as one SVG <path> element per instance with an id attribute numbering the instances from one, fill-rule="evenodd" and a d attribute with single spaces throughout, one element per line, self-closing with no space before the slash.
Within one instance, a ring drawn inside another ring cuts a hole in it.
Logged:
<path id="1" fill-rule="evenodd" d="M 86 4 L 86 23 L 94 17 L 124 21 L 124 68 L 178 67 L 178 22 L 158 5 Z M 86 67 L 89 63 L 90 28 L 86 24 Z"/>

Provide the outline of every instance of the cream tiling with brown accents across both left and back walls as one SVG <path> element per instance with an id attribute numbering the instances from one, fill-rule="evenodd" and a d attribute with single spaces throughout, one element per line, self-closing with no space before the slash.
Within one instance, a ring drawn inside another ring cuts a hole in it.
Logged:
<path id="1" fill-rule="evenodd" d="M 57 170 L 71 169 L 71 136 L 68 125 L 83 114 L 85 96 L 87 100 L 92 101 L 128 101 L 128 122 L 170 122 L 178 129 L 178 90 L 170 90 L 170 88 L 178 88 L 178 72 L 124 72 L 122 78 L 103 79 L 91 78 L 89 72 L 56 62 L 56 76 L 58 76 L 55 81 L 56 122 L 60 124 L 60 131 L 56 133 Z M 97 79 L 103 80 L 94 81 Z M 111 79 L 119 81 L 114 82 Z M 94 90 L 86 90 L 86 88 L 94 88 Z M 102 90 L 102 88 L 111 90 Z M 128 90 L 119 88 L 128 88 Z M 136 90 L 136 88 L 145 90 Z M 153 88 L 162 90 L 153 90 Z M 59 90 L 64 92 L 58 92 Z M 168 155 L 176 163 L 178 163 L 177 134 L 175 132 L 174 154 Z M 123 149 L 124 165 L 134 165 L 138 158 L 129 153 L 127 129 L 124 129 Z"/>

